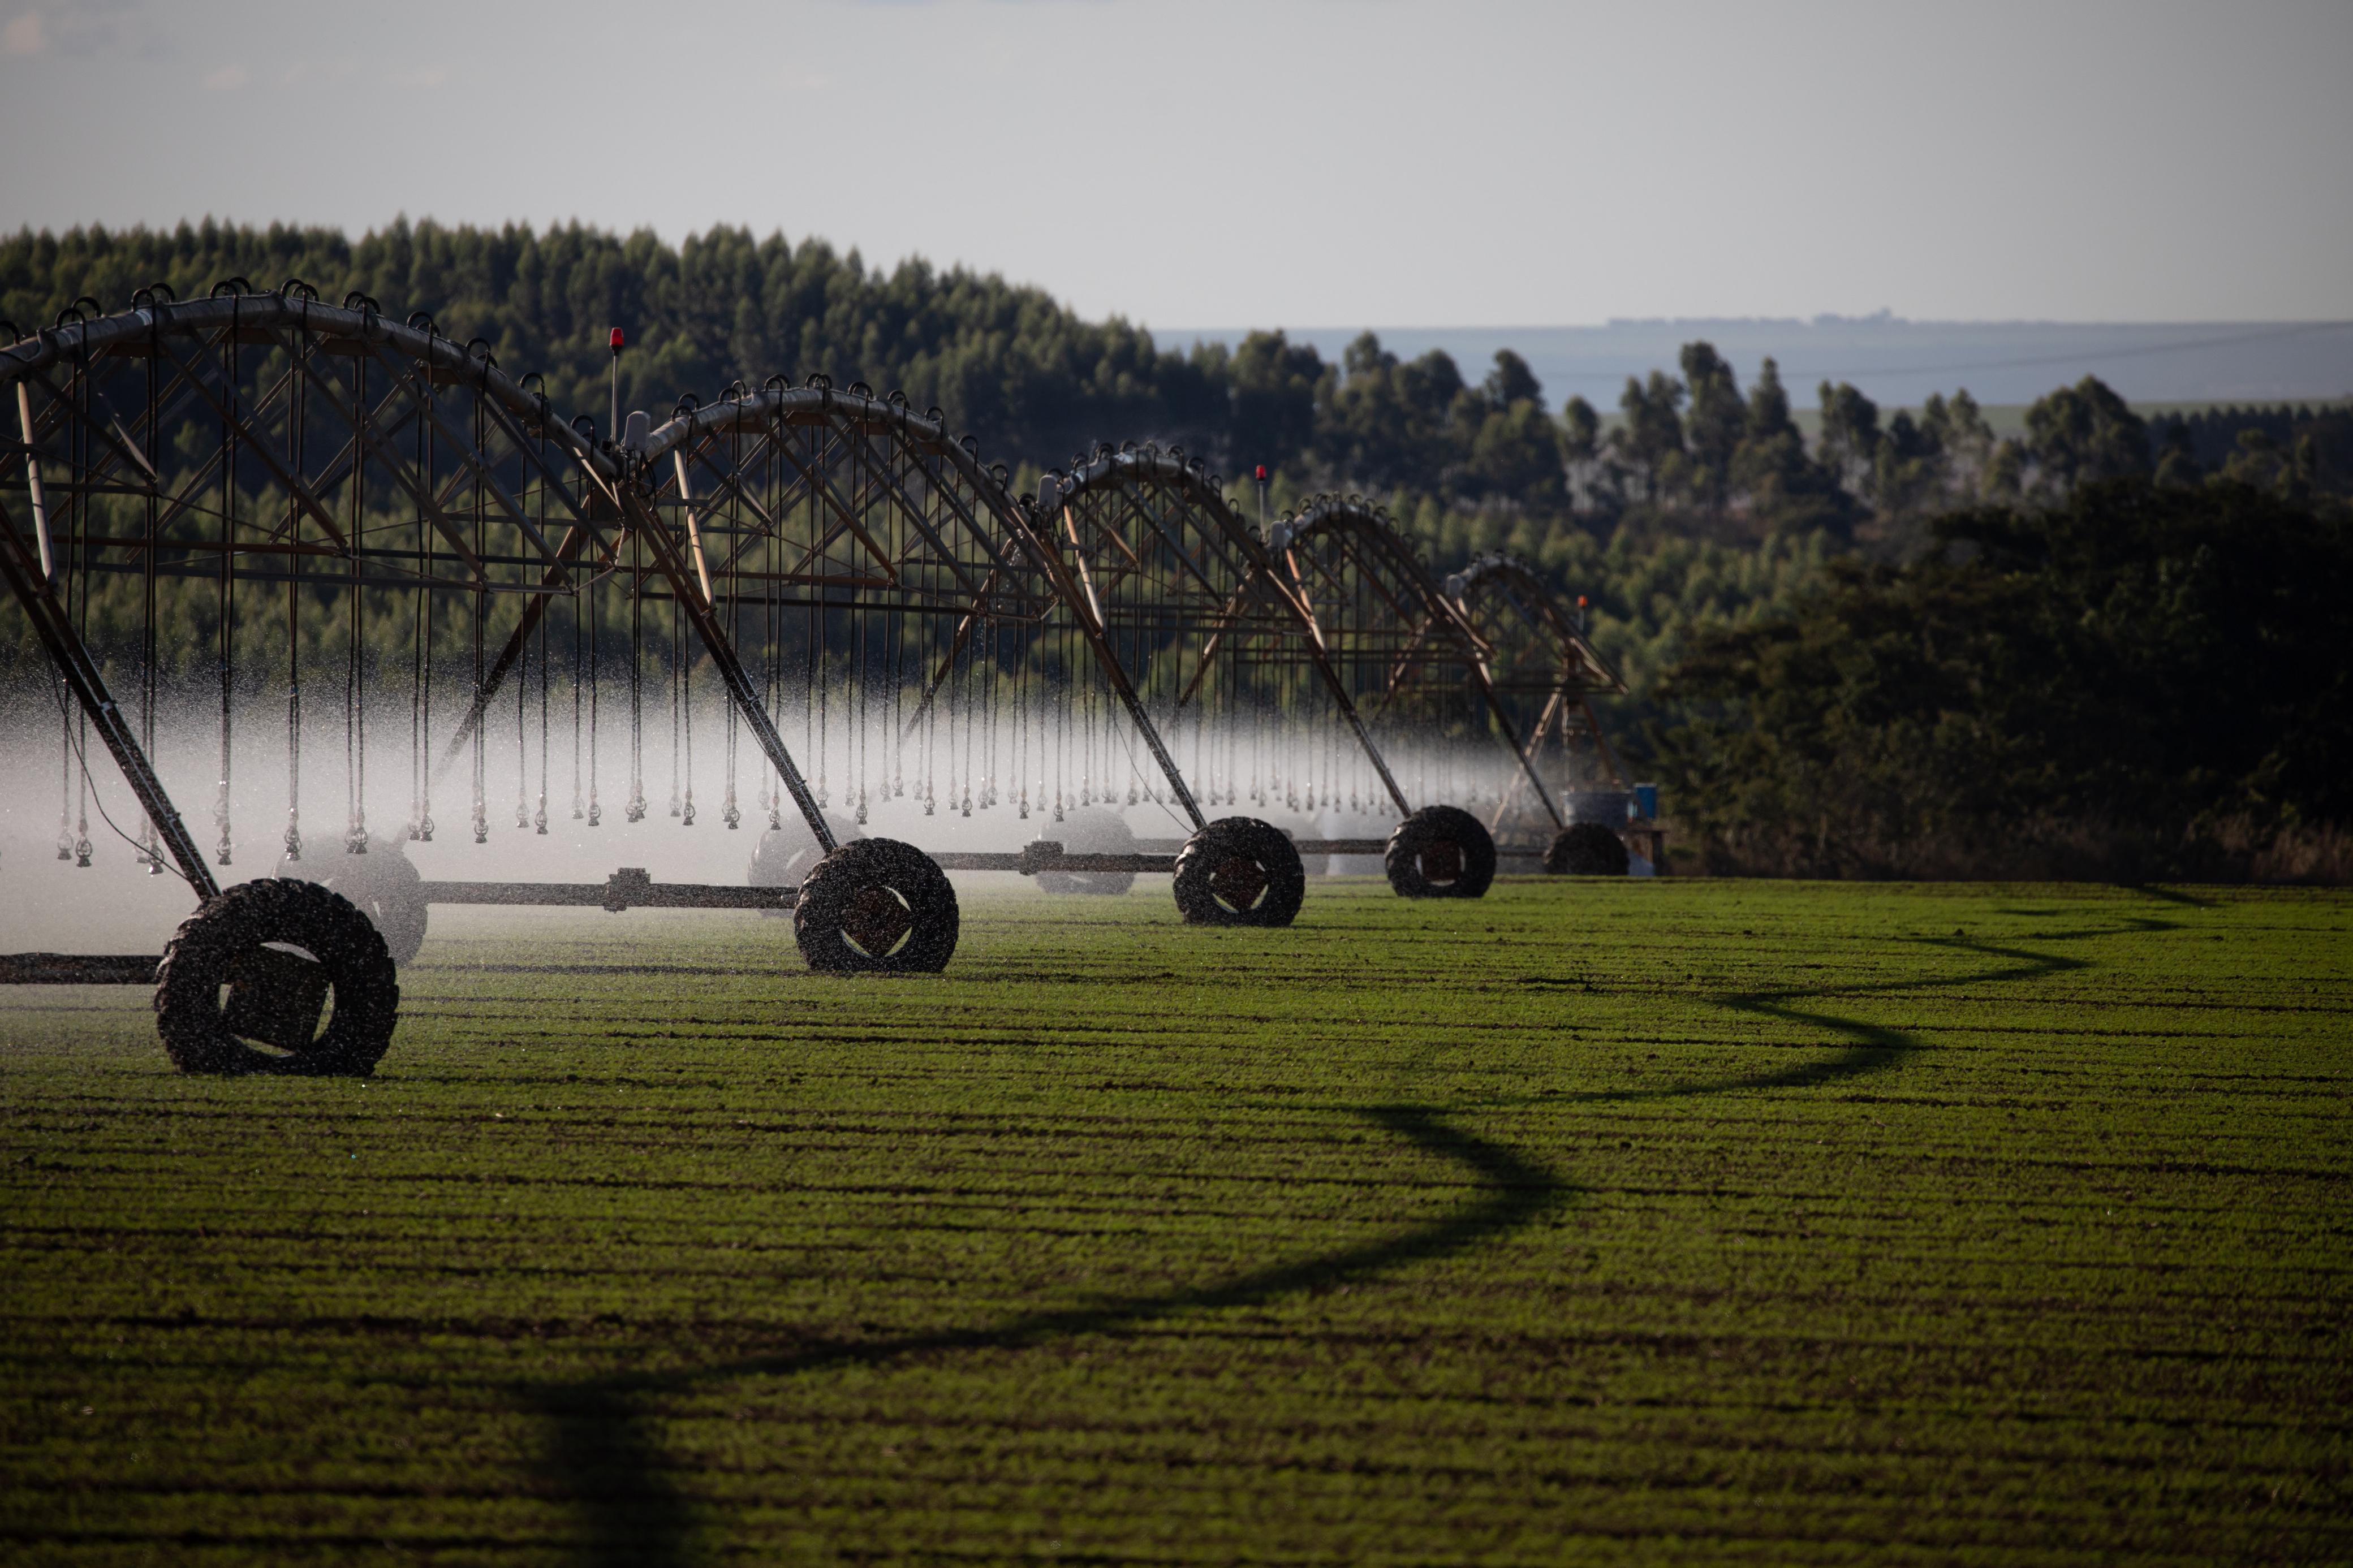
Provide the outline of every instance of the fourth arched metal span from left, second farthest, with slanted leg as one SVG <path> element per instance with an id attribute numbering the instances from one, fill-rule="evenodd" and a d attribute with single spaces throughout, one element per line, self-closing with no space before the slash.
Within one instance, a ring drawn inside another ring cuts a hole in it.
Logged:
<path id="1" fill-rule="evenodd" d="M 1367 724 L 1409 708 L 1431 719 L 1431 705 L 1468 696 L 1473 712 L 1464 717 L 1492 729 L 1553 825 L 1565 827 L 1489 677 L 1494 649 L 1381 508 L 1362 496 L 1315 496 L 1282 515 L 1268 550 Z"/>

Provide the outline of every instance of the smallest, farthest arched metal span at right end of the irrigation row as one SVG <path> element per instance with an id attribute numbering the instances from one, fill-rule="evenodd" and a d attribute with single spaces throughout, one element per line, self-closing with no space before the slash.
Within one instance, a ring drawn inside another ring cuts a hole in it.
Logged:
<path id="1" fill-rule="evenodd" d="M 1626 769 L 1593 712 L 1595 696 L 1624 696 L 1626 677 L 1586 639 L 1560 597 L 1515 555 L 1482 555 L 1445 581 L 1464 628 L 1478 642 L 1499 722 L 1520 752 L 1525 780 L 1560 827 L 1558 790 L 1546 788 L 1541 759 L 1558 748 L 1562 764 L 1591 745 L 1617 788 Z M 1518 780 L 1497 804 L 1489 827 L 1518 806 Z"/>

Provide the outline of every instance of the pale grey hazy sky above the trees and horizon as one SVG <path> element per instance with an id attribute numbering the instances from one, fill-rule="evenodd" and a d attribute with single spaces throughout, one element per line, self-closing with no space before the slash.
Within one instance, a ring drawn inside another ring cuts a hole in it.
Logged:
<path id="1" fill-rule="evenodd" d="M 2353 2 L 0 0 L 0 226 L 824 235 L 1153 327 L 2353 317 Z"/>

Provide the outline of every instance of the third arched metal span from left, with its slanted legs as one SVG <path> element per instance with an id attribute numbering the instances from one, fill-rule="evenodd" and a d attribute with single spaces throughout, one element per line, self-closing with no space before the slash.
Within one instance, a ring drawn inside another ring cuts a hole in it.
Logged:
<path id="1" fill-rule="evenodd" d="M 1200 458 L 1148 442 L 1096 447 L 1068 470 L 1040 477 L 1035 520 L 1075 588 L 1071 611 L 1092 623 L 1129 689 L 1165 701 L 1169 717 L 1181 719 L 1205 710 L 1221 675 L 1238 696 L 1245 668 L 1304 668 L 1362 748 L 1398 816 L 1412 816 L 1313 611 Z M 1174 778 L 1174 764 L 1167 766 Z M 1186 804 L 1200 825 L 1191 792 Z M 1346 844 L 1334 853 L 1358 851 Z"/>

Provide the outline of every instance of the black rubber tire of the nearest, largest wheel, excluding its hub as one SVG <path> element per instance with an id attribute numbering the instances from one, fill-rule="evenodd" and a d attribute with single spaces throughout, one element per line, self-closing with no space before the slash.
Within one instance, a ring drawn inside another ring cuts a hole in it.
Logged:
<path id="1" fill-rule="evenodd" d="M 264 943 L 318 959 L 334 1016 L 285 1056 L 233 1034 L 221 1009 L 231 969 Z M 181 1072 L 367 1077 L 393 1044 L 400 978 L 384 936 L 348 898 L 292 877 L 240 882 L 181 922 L 155 971 L 155 1032 Z"/>

